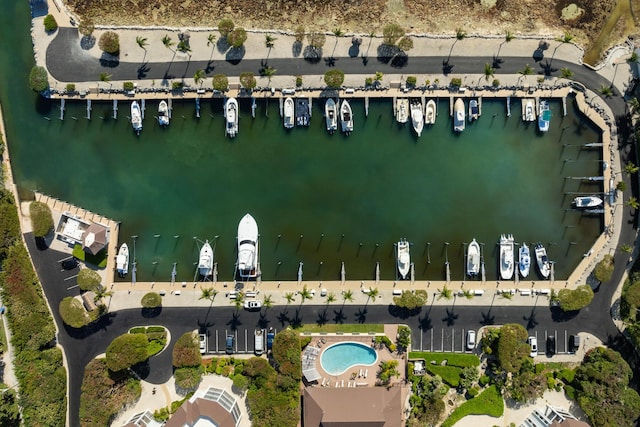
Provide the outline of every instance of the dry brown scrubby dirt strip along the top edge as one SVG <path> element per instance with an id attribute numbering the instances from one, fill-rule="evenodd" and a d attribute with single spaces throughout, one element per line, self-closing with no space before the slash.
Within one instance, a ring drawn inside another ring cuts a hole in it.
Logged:
<path id="1" fill-rule="evenodd" d="M 638 0 L 631 1 L 632 5 Z M 237 26 L 293 31 L 380 33 L 396 22 L 408 32 L 453 35 L 546 34 L 569 31 L 587 47 L 599 34 L 617 0 L 67 0 L 79 16 L 99 25 L 163 25 L 215 27 L 221 18 Z M 583 10 L 574 20 L 561 19 L 562 9 L 575 3 Z M 620 38 L 610 40 L 610 44 Z"/>

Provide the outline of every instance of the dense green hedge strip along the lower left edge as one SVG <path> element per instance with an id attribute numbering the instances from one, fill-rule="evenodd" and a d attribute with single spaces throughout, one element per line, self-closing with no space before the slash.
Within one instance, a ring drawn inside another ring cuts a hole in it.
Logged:
<path id="1" fill-rule="evenodd" d="M 25 247 L 11 193 L 0 190 L 0 286 L 12 332 L 23 425 L 64 426 L 66 372 L 55 328 Z"/>

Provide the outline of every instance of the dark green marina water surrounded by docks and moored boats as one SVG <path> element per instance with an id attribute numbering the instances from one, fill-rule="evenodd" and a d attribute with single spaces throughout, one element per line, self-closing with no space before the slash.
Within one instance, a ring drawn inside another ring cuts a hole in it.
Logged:
<path id="1" fill-rule="evenodd" d="M 517 99 L 506 117 L 504 99 L 486 98 L 480 120 L 455 135 L 442 99 L 420 139 L 395 123 L 390 99 L 372 100 L 368 117 L 354 100 L 349 137 L 327 134 L 319 101 L 309 128 L 287 132 L 277 101 L 260 100 L 253 119 L 243 99 L 234 140 L 224 137 L 221 100 L 202 100 L 199 119 L 193 102 L 175 102 L 168 129 L 149 101 L 136 137 L 128 103 L 117 120 L 110 103 L 94 103 L 89 121 L 84 102 L 67 102 L 61 121 L 57 102 L 30 92 L 28 7 L 0 1 L 8 12 L 0 17 L 0 99 L 17 184 L 121 221 L 120 243 L 131 247 L 138 236 L 139 281 L 169 281 L 174 262 L 176 280 L 192 280 L 205 239 L 216 243 L 218 280 L 232 281 L 247 212 L 260 229 L 263 280 L 296 280 L 300 262 L 305 280 L 337 280 L 342 262 L 348 280 L 373 279 L 376 262 L 381 278 L 393 279 L 400 238 L 412 243 L 416 279 L 444 279 L 447 259 L 451 278 L 462 279 L 463 243 L 472 238 L 484 243 L 494 279 L 502 233 L 543 242 L 563 279 L 603 228 L 601 216 L 568 210 L 574 195 L 566 193 L 602 191 L 567 178 L 602 172 L 599 150 L 579 147 L 600 134 L 571 98 L 566 117 L 551 102 L 544 135 L 522 122 Z"/>

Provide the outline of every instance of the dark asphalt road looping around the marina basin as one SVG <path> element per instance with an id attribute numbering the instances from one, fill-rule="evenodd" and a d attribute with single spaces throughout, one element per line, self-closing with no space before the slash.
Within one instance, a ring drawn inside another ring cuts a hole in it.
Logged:
<path id="1" fill-rule="evenodd" d="M 535 63 L 538 74 L 558 75 L 563 67 L 570 68 L 574 73 L 574 79 L 583 83 L 586 87 L 595 91 L 603 85 L 609 86 L 610 82 L 594 71 L 575 63 L 560 59 L 549 62 L 546 59 L 537 60 L 533 57 L 504 57 L 501 58 L 500 67 L 496 74 L 516 74 L 526 64 Z M 206 69 L 208 73 L 223 73 L 226 75 L 239 75 L 243 71 L 258 73 L 262 68 L 261 60 L 247 59 L 238 63 L 228 61 L 215 61 L 209 64 L 207 61 L 193 61 L 185 63 L 149 63 L 143 70 L 140 64 L 120 62 L 107 66 L 101 64 L 98 59 L 89 57 L 82 51 L 78 43 L 76 29 L 60 28 L 58 35 L 50 44 L 46 53 L 47 68 L 50 74 L 63 82 L 95 81 L 97 76 L 108 71 L 114 80 L 163 79 L 181 76 L 192 76 L 197 69 Z M 414 57 L 410 56 L 401 66 L 394 66 L 383 58 L 372 58 L 369 62 L 363 62 L 361 58 L 335 58 L 333 60 L 321 60 L 316 63 L 299 58 L 270 59 L 269 65 L 280 71 L 280 74 L 291 75 L 321 75 L 332 67 L 338 67 L 346 74 L 372 74 L 381 71 L 385 74 L 440 74 L 444 68 L 449 73 L 478 74 L 478 70 L 484 68 L 485 63 L 492 63 L 493 57 Z M 621 97 L 616 96 L 603 99 L 613 111 L 618 126 L 618 148 L 621 162 L 637 163 L 635 147 L 629 129 L 629 120 L 626 117 L 625 103 Z M 636 182 L 631 182 L 627 176 L 622 177 L 633 194 L 638 194 Z M 624 208 L 624 221 L 620 244 L 634 246 L 636 237 L 637 218 L 627 207 Z M 65 274 L 60 270 L 58 261 L 67 255 L 53 250 L 38 250 L 33 237 L 26 235 L 27 245 L 32 254 L 38 275 L 42 280 L 45 294 L 51 307 L 54 308 L 54 317 L 58 325 L 63 325 L 55 309 L 60 300 L 68 295 L 77 294 L 77 288 L 71 288 L 65 281 Z M 628 255 L 616 251 L 615 271 L 610 283 L 620 283 Z M 207 308 L 164 308 L 157 317 L 145 317 L 140 310 L 124 310 L 112 313 L 108 319 L 90 331 L 71 331 L 63 326 L 58 337 L 59 343 L 64 347 L 69 372 L 69 420 L 73 426 L 79 425 L 80 386 L 84 367 L 96 355 L 103 353 L 107 344 L 116 336 L 126 332 L 133 325 L 162 324 L 166 326 L 175 339 L 186 331 L 196 328 L 209 331 L 216 328 L 222 329 L 252 329 L 256 325 L 273 326 L 282 328 L 291 323 L 315 323 L 326 321 L 328 323 L 406 323 L 413 330 L 413 342 L 422 342 L 424 333 L 434 329 L 446 328 L 477 329 L 486 324 L 503 324 L 515 322 L 523 324 L 530 330 L 554 330 L 562 328 L 569 333 L 578 331 L 590 332 L 603 340 L 607 345 L 621 351 L 627 359 L 634 358 L 634 352 L 628 347 L 626 340 L 618 333 L 610 316 L 611 298 L 614 292 L 613 286 L 602 285 L 596 292 L 593 302 L 574 316 L 565 316 L 562 313 L 549 309 L 545 301 L 539 301 L 535 307 L 456 307 L 432 306 L 424 307 L 421 312 L 412 316 L 403 316 L 395 313 L 389 306 L 344 306 L 331 307 L 325 312 L 325 306 L 292 306 L 275 307 L 266 313 L 240 312 L 231 308 L 216 307 L 209 311 Z M 335 311 L 334 311 L 335 310 Z M 323 320 L 324 319 L 324 320 Z M 444 333 L 443 333 L 444 334 Z M 420 340 L 420 341 L 419 341 Z M 172 340 L 173 342 L 173 340 Z M 162 383 L 172 374 L 171 349 L 152 358 L 149 365 L 144 367 L 142 375 L 152 383 Z M 632 361 L 632 365 L 634 362 Z"/>

